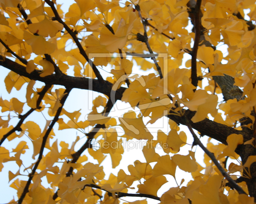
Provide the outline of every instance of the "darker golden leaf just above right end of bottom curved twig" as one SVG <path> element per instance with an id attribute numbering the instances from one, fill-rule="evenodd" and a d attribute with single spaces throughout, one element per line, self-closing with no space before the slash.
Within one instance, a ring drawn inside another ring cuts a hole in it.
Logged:
<path id="1" fill-rule="evenodd" d="M 137 193 L 145 193 L 148 195 L 154 195 L 157 196 L 158 189 L 163 186 L 167 182 L 166 178 L 164 176 L 158 176 L 158 177 L 150 177 L 146 181 L 144 181 L 144 184 L 139 184 L 138 188 L 139 190 Z"/>

